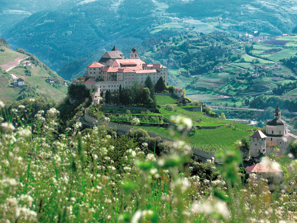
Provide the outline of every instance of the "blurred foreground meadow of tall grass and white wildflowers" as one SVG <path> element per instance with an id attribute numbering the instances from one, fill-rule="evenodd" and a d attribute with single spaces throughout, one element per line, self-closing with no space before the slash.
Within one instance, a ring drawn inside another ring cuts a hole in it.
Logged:
<path id="1" fill-rule="evenodd" d="M 21 120 L 20 113 L 30 108 L 7 113 L 2 102 L 0 107 L 9 120 L 0 120 L 0 222 L 293 222 L 297 217 L 296 179 L 276 185 L 273 194 L 267 180 L 255 175 L 243 184 L 238 150 L 218 154 L 224 168 L 215 181 L 190 176 L 190 151 L 183 142 L 162 157 L 144 154 L 132 142 L 116 169 L 108 156 L 115 145 L 104 127 L 82 136 L 77 123 L 59 133 L 56 109 Z"/>

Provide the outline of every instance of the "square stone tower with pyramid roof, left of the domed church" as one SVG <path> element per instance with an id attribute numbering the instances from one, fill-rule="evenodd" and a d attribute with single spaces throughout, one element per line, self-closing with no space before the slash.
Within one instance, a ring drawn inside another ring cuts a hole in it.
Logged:
<path id="1" fill-rule="evenodd" d="M 266 138 L 261 131 L 256 131 L 251 136 L 251 158 L 254 159 L 260 156 L 261 153 L 265 154 L 266 152 Z"/>

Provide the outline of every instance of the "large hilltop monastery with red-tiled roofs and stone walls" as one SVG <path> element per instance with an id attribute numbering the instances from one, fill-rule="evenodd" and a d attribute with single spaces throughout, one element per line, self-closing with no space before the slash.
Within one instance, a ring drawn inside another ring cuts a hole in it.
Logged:
<path id="1" fill-rule="evenodd" d="M 132 87 L 134 81 L 144 84 L 147 76 L 151 76 L 154 84 L 160 77 L 168 85 L 168 68 L 161 64 L 146 64 L 138 59 L 138 51 L 134 47 L 130 52 L 130 59 L 123 59 L 124 54 L 116 46 L 111 51 L 106 51 L 98 62 L 87 67 L 84 77 L 90 78 L 84 82 L 88 89 L 97 89 L 98 92 L 118 90 Z M 75 81 L 75 80 L 74 80 Z"/>

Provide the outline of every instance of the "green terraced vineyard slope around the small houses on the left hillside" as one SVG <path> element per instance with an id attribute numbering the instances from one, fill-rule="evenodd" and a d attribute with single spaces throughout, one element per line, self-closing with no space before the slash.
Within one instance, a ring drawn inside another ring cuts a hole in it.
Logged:
<path id="1" fill-rule="evenodd" d="M 22 67 L 15 67 L 14 69 L 10 70 L 10 73 L 18 76 L 25 76 L 24 71 L 25 69 Z M 40 67 L 36 67 L 33 68 L 31 71 L 32 76 L 25 76 L 26 82 L 29 83 L 31 86 L 37 87 L 37 92 L 49 96 L 56 102 L 59 102 L 66 96 L 66 86 L 63 85 L 60 88 L 55 88 L 45 82 L 45 79 L 50 77 L 50 75 L 45 70 L 42 70 Z"/>

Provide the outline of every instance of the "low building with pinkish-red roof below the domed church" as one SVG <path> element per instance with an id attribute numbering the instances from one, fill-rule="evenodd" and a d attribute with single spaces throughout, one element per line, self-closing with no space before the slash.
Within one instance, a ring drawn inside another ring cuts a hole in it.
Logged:
<path id="1" fill-rule="evenodd" d="M 248 174 L 256 174 L 257 178 L 271 179 L 274 178 L 275 183 L 282 182 L 283 171 L 278 168 L 278 164 L 274 162 L 258 163 L 251 167 L 245 168 Z"/>

